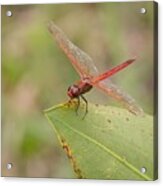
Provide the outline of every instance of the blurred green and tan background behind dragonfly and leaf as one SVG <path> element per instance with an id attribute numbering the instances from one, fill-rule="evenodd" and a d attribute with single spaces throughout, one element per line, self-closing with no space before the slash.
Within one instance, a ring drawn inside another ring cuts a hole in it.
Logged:
<path id="1" fill-rule="evenodd" d="M 142 7 L 146 14 L 139 13 Z M 65 102 L 67 87 L 79 79 L 48 32 L 49 20 L 94 59 L 100 72 L 137 56 L 112 81 L 153 113 L 152 2 L 2 6 L 3 176 L 75 177 L 43 115 Z M 95 89 L 86 98 L 117 105 Z"/>

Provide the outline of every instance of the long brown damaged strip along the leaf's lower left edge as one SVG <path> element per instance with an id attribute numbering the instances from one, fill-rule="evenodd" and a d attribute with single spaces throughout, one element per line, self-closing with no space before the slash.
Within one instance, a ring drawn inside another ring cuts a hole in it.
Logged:
<path id="1" fill-rule="evenodd" d="M 74 172 L 77 174 L 77 177 L 78 177 L 78 178 L 84 178 L 83 175 L 82 175 L 81 170 L 80 170 L 79 167 L 77 166 L 77 163 L 76 163 L 75 158 L 74 158 L 73 155 L 72 155 L 72 151 L 71 151 L 71 149 L 70 149 L 70 146 L 66 143 L 66 141 L 65 141 L 63 138 L 61 139 L 61 144 L 62 144 L 62 147 L 63 147 L 63 149 L 65 150 L 65 152 L 66 152 L 66 154 L 67 154 L 67 157 L 69 158 L 69 160 L 70 160 L 71 163 L 72 163 Z"/>

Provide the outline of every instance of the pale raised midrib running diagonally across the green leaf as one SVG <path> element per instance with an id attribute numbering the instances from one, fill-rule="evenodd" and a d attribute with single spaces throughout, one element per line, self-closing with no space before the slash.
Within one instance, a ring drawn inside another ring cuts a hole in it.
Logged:
<path id="1" fill-rule="evenodd" d="M 120 163 L 124 164 L 126 167 L 128 167 L 130 170 L 132 170 L 133 172 L 135 172 L 137 175 L 139 175 L 140 177 L 144 178 L 145 180 L 152 180 L 149 176 L 145 175 L 145 174 L 141 174 L 140 170 L 138 170 L 136 167 L 134 167 L 131 163 L 129 163 L 126 159 L 121 158 L 118 154 L 116 154 L 114 151 L 112 151 L 111 149 L 109 149 L 108 147 L 106 147 L 105 145 L 99 143 L 97 140 L 89 137 L 88 135 L 72 128 L 71 126 L 67 125 L 65 122 L 56 119 L 58 122 L 62 123 L 64 126 L 66 126 L 67 128 L 71 129 L 74 133 L 77 133 L 78 135 L 80 135 L 81 137 L 87 139 L 89 142 L 94 143 L 95 145 L 97 145 L 98 147 L 100 147 L 102 150 L 104 150 L 105 152 L 107 152 L 109 155 L 113 156 L 115 159 L 117 159 Z M 51 120 L 50 120 L 51 121 Z M 52 122 L 52 121 L 51 121 Z M 52 123 L 53 125 L 53 123 Z M 54 125 L 53 125 L 54 126 Z M 54 126 L 55 127 L 55 126 Z"/>

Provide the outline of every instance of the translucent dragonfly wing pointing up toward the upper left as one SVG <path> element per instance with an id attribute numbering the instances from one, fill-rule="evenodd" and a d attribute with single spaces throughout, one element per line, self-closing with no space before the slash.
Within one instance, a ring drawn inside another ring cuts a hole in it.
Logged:
<path id="1" fill-rule="evenodd" d="M 72 65 L 79 73 L 81 78 L 93 77 L 98 74 L 97 68 L 92 58 L 84 51 L 75 46 L 63 31 L 58 28 L 52 21 L 48 24 L 48 29 L 52 33 L 60 48 L 70 59 Z"/>

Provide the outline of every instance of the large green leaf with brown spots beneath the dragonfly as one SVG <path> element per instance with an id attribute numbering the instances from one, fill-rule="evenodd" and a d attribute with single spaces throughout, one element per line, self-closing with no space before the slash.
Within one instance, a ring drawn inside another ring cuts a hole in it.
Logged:
<path id="1" fill-rule="evenodd" d="M 153 180 L 153 118 L 76 102 L 45 111 L 79 178 Z M 141 168 L 146 169 L 145 173 Z"/>

